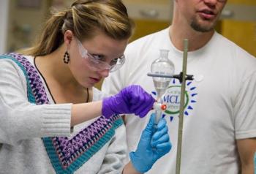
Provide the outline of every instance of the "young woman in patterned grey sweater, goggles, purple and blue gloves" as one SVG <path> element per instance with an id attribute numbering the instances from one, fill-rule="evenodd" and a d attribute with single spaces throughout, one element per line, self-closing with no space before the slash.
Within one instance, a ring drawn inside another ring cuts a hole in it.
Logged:
<path id="1" fill-rule="evenodd" d="M 117 114 L 143 117 L 154 99 L 140 86 L 106 97 L 94 84 L 124 64 L 133 24 L 118 0 L 75 1 L 54 14 L 23 55 L 0 56 L 1 173 L 144 173 L 170 151 L 154 116 L 131 163 Z"/>

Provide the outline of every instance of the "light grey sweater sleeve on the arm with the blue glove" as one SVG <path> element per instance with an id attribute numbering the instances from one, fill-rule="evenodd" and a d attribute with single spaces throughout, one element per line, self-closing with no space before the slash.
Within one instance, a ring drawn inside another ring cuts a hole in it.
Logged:
<path id="1" fill-rule="evenodd" d="M 98 174 L 120 174 L 127 156 L 127 137 L 124 124 L 116 129 Z"/>

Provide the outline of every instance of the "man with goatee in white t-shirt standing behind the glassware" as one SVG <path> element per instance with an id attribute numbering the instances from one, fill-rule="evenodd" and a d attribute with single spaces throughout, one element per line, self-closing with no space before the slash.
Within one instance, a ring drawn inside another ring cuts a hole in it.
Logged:
<path id="1" fill-rule="evenodd" d="M 167 49 L 169 59 L 181 72 L 183 39 L 189 39 L 184 131 L 181 154 L 182 174 L 252 174 L 256 149 L 256 58 L 222 37 L 214 26 L 226 0 L 176 0 L 173 23 L 165 30 L 132 42 L 127 62 L 108 77 L 102 89 L 116 94 L 124 86 L 139 84 L 155 94 L 147 72 Z M 114 86 L 114 87 L 113 87 Z M 179 94 L 181 84 L 171 80 L 162 97 L 167 104 L 173 149 L 150 170 L 151 174 L 176 171 Z M 146 119 L 126 116 L 129 151 L 135 149 Z"/>

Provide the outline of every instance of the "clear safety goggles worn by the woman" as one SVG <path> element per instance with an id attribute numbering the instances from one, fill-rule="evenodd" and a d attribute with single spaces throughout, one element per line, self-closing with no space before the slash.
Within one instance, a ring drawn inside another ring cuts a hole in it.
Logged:
<path id="1" fill-rule="evenodd" d="M 80 56 L 82 56 L 83 58 L 86 58 L 86 60 L 88 60 L 91 69 L 93 69 L 94 71 L 102 71 L 102 70 L 108 69 L 110 72 L 114 72 L 117 69 L 120 69 L 121 66 L 125 62 L 125 56 L 122 55 L 118 58 L 114 58 L 110 62 L 110 64 L 108 64 L 105 61 L 101 60 L 102 59 L 101 56 L 91 55 L 88 52 L 88 50 L 86 50 L 86 48 L 83 47 L 80 40 L 78 40 L 78 39 L 76 39 L 76 40 L 77 40 L 77 43 L 78 43 L 78 49 L 79 49 Z"/>

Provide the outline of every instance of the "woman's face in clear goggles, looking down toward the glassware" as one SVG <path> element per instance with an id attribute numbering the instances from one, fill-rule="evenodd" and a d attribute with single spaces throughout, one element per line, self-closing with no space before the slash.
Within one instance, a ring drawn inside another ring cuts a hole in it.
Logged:
<path id="1" fill-rule="evenodd" d="M 89 88 L 108 77 L 111 69 L 115 69 L 116 61 L 122 60 L 120 58 L 124 55 L 127 42 L 127 39 L 116 40 L 103 33 L 84 41 L 72 37 L 68 48 L 69 69 L 75 80 L 81 86 Z"/>

